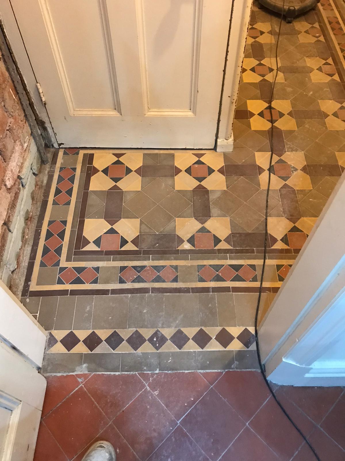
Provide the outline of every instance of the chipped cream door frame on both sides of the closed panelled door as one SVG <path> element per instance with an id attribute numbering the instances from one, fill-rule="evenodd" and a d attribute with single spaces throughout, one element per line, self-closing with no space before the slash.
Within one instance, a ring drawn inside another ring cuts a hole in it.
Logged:
<path id="1" fill-rule="evenodd" d="M 241 77 L 244 48 L 249 26 L 250 12 L 253 0 L 234 0 L 230 19 L 230 52 L 228 54 L 224 89 L 220 102 L 219 125 L 217 129 L 216 150 L 218 152 L 231 152 L 233 150 L 232 125 L 235 115 L 238 88 Z M 52 147 L 57 148 L 54 130 L 36 87 L 36 77 L 31 67 L 22 36 L 14 17 L 10 0 L 0 0 L 0 18 L 6 36 L 11 45 L 13 57 L 26 83 L 35 111 L 46 125 L 46 129 L 53 140 Z M 233 52 L 232 50 L 235 50 Z"/>

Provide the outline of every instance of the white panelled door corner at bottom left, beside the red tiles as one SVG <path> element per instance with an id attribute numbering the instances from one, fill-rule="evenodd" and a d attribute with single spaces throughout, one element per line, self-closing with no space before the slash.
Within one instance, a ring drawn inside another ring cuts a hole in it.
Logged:
<path id="1" fill-rule="evenodd" d="M 0 459 L 32 461 L 46 380 L 0 342 Z"/>

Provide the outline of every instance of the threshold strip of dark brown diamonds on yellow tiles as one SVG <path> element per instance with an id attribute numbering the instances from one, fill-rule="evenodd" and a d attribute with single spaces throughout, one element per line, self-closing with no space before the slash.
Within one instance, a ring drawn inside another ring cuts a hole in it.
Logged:
<path id="1" fill-rule="evenodd" d="M 254 349 L 253 327 L 138 328 L 126 330 L 53 330 L 50 353 L 155 352 Z"/>

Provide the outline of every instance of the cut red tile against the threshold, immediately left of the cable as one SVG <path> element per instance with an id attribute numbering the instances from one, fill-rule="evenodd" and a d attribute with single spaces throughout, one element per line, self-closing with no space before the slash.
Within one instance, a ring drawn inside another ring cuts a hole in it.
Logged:
<path id="1" fill-rule="evenodd" d="M 270 396 L 261 374 L 253 371 L 225 372 L 213 387 L 245 421 Z"/>

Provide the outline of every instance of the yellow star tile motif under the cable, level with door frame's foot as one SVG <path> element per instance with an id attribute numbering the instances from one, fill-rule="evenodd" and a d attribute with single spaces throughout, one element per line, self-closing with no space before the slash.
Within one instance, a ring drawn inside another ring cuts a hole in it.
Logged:
<path id="1" fill-rule="evenodd" d="M 260 187 L 261 189 L 267 189 L 270 152 L 255 152 L 255 160 L 261 167 L 259 170 Z M 311 179 L 303 171 L 305 165 L 306 161 L 303 152 L 273 154 L 270 168 L 270 189 L 280 189 L 281 187 L 312 189 Z"/>

